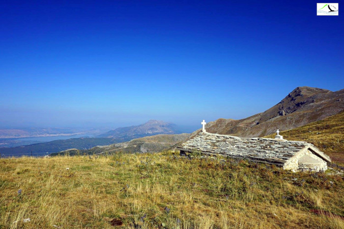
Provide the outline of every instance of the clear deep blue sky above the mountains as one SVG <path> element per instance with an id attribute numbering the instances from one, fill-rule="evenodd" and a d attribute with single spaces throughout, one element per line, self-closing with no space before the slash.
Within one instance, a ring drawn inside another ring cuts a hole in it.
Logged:
<path id="1" fill-rule="evenodd" d="M 0 3 L 0 127 L 199 127 L 344 88 L 344 13 L 313 0 L 48 2 Z"/>

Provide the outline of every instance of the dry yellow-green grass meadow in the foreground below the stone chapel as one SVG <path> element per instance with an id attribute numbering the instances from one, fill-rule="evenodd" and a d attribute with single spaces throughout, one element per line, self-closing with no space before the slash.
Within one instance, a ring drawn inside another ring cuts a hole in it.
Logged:
<path id="1" fill-rule="evenodd" d="M 0 228 L 344 228 L 340 175 L 170 152 L 0 164 Z"/>

